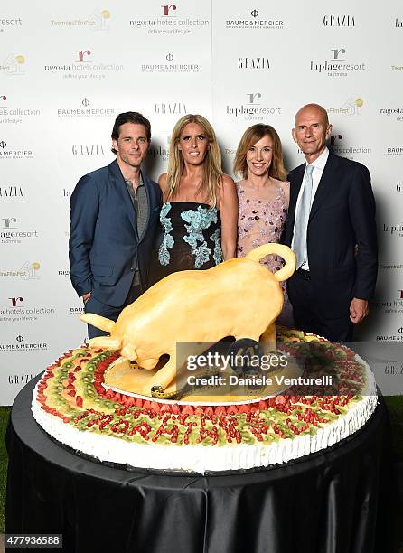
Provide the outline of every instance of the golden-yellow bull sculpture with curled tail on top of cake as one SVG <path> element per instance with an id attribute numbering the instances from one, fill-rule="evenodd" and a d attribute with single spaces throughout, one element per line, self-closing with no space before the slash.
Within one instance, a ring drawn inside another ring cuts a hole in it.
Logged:
<path id="1" fill-rule="evenodd" d="M 259 261 L 269 254 L 285 266 L 272 274 Z M 127 305 L 117 322 L 96 314 L 80 319 L 110 333 L 89 341 L 91 348 L 120 350 L 124 360 L 154 369 L 167 353 L 169 361 L 149 380 L 147 395 L 162 396 L 176 371 L 176 342 L 218 342 L 226 336 L 271 342 L 276 347 L 276 317 L 284 302 L 279 284 L 295 271 L 293 251 L 268 243 L 246 258 L 233 258 L 207 270 L 173 273 Z M 134 369 L 136 370 L 136 369 Z"/>

